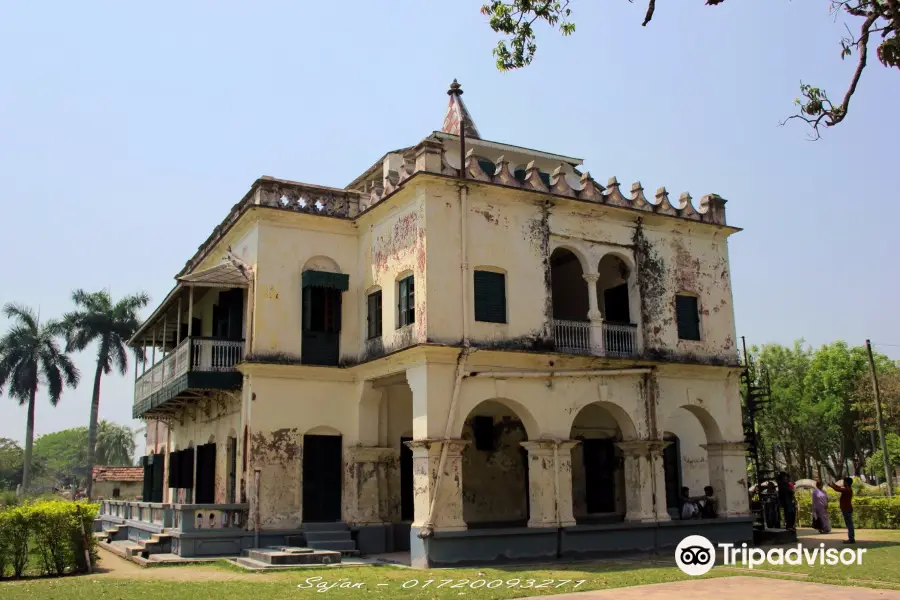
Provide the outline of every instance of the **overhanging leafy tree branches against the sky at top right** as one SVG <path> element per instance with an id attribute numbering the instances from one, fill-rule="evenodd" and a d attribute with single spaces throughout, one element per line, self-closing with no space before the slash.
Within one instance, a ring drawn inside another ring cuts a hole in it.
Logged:
<path id="1" fill-rule="evenodd" d="M 628 0 L 633 2 L 633 0 Z M 644 0 L 647 12 L 643 25 L 653 18 L 656 0 Z M 705 0 L 706 5 L 716 6 L 725 0 Z M 497 33 L 507 36 L 494 48 L 497 68 L 501 71 L 518 69 L 531 64 L 537 50 L 535 23 L 558 27 L 563 35 L 575 32 L 572 20 L 571 0 L 491 0 L 481 7 L 482 14 L 490 18 L 490 26 Z M 788 119 L 800 119 L 812 128 L 813 139 L 820 136 L 821 126 L 833 127 L 847 117 L 850 99 L 868 64 L 870 40 L 879 40 L 876 48 L 878 60 L 885 67 L 900 68 L 900 0 L 828 0 L 835 17 L 843 15 L 854 23 L 859 32 L 850 33 L 841 40 L 841 58 L 856 54 L 856 70 L 843 97 L 833 102 L 825 90 L 801 82 L 802 99 L 795 100 L 797 114 Z M 760 3 L 762 4 L 762 3 Z M 768 5 L 766 8 L 769 8 Z"/>

